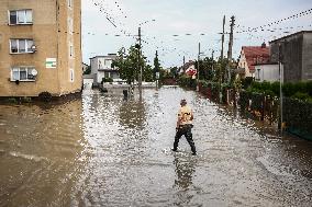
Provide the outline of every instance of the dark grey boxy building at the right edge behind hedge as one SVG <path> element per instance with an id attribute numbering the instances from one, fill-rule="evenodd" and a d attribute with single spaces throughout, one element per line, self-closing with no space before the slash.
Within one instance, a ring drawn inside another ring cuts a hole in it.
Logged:
<path id="1" fill-rule="evenodd" d="M 312 80 L 312 31 L 301 31 L 270 44 L 270 62 L 281 60 L 283 81 Z"/>

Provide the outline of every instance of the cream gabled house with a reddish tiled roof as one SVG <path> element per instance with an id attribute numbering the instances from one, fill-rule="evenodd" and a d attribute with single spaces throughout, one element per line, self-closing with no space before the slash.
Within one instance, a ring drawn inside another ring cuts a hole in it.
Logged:
<path id="1" fill-rule="evenodd" d="M 264 43 L 261 46 L 243 46 L 235 72 L 241 78 L 255 77 L 255 65 L 269 61 L 269 47 Z"/>

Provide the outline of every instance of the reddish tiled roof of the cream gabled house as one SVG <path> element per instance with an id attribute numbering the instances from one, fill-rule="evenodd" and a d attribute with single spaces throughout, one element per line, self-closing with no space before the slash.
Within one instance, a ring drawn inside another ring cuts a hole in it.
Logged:
<path id="1" fill-rule="evenodd" d="M 248 69 L 250 72 L 255 71 L 256 64 L 266 64 L 270 58 L 269 47 L 263 46 L 243 46 L 242 50 L 244 51 Z"/>

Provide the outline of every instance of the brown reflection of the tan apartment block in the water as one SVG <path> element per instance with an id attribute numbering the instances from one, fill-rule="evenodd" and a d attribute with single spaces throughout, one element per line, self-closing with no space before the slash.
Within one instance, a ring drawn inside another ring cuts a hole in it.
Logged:
<path id="1" fill-rule="evenodd" d="M 0 108 L 0 206 L 68 206 L 81 173 L 81 100 Z"/>

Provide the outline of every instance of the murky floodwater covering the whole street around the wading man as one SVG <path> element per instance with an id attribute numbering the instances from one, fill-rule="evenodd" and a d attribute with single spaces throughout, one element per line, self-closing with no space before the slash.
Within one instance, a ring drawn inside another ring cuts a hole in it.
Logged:
<path id="1" fill-rule="evenodd" d="M 196 157 L 186 139 L 170 151 L 182 97 Z M 192 91 L 0 105 L 0 206 L 311 206 L 311 194 L 312 142 Z"/>

